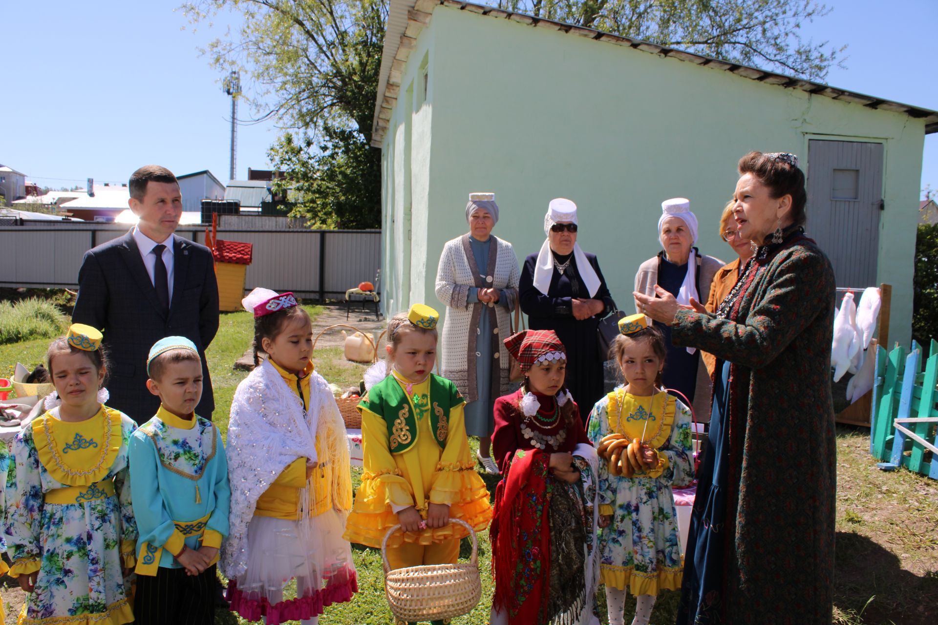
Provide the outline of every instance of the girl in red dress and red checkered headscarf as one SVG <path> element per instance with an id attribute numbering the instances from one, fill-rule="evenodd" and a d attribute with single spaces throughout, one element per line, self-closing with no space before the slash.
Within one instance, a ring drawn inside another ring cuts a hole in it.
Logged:
<path id="1" fill-rule="evenodd" d="M 524 382 L 495 400 L 492 453 L 505 478 L 490 532 L 491 622 L 598 624 L 598 459 L 564 384 L 567 350 L 552 330 L 505 345 Z"/>

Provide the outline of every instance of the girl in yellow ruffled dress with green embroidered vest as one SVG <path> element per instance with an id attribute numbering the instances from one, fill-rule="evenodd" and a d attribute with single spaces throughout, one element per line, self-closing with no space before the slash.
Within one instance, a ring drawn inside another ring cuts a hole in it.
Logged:
<path id="1" fill-rule="evenodd" d="M 387 529 L 400 523 L 402 533 L 387 543 L 391 569 L 455 563 L 467 532 L 449 518 L 477 530 L 492 520 L 466 439 L 465 401 L 455 384 L 431 373 L 438 319 L 417 304 L 390 320 L 390 375 L 358 404 L 365 470 L 345 537 L 380 547 Z"/>

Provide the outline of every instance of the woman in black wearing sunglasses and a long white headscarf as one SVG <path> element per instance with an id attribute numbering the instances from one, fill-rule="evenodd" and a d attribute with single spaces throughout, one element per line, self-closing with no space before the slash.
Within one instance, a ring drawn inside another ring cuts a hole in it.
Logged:
<path id="1" fill-rule="evenodd" d="M 544 216 L 547 239 L 524 260 L 518 290 L 532 330 L 553 330 L 567 347 L 567 389 L 587 413 L 603 395 L 599 320 L 615 303 L 595 254 L 577 243 L 577 205 L 557 198 Z M 583 423 L 586 415 L 583 414 Z"/>

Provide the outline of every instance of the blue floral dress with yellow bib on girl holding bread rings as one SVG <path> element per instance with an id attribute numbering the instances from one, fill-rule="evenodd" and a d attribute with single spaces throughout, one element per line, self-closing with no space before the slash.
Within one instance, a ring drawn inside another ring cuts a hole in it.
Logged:
<path id="1" fill-rule="evenodd" d="M 613 432 L 639 438 L 658 450 L 658 469 L 615 476 L 599 459 L 599 513 L 612 514 L 599 530 L 599 574 L 608 587 L 633 595 L 681 588 L 681 551 L 672 484 L 693 479 L 690 410 L 672 395 L 640 397 L 616 388 L 600 399 L 586 434 L 593 444 Z"/>

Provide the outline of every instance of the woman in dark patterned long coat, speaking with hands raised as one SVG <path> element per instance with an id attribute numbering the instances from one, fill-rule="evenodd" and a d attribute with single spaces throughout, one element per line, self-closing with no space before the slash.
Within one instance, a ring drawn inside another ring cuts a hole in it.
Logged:
<path id="1" fill-rule="evenodd" d="M 679 625 L 831 622 L 837 450 L 830 389 L 835 279 L 804 235 L 790 154 L 739 161 L 734 218 L 763 242 L 716 313 L 635 293 L 675 345 L 717 357 L 709 451 L 688 537 Z"/>

